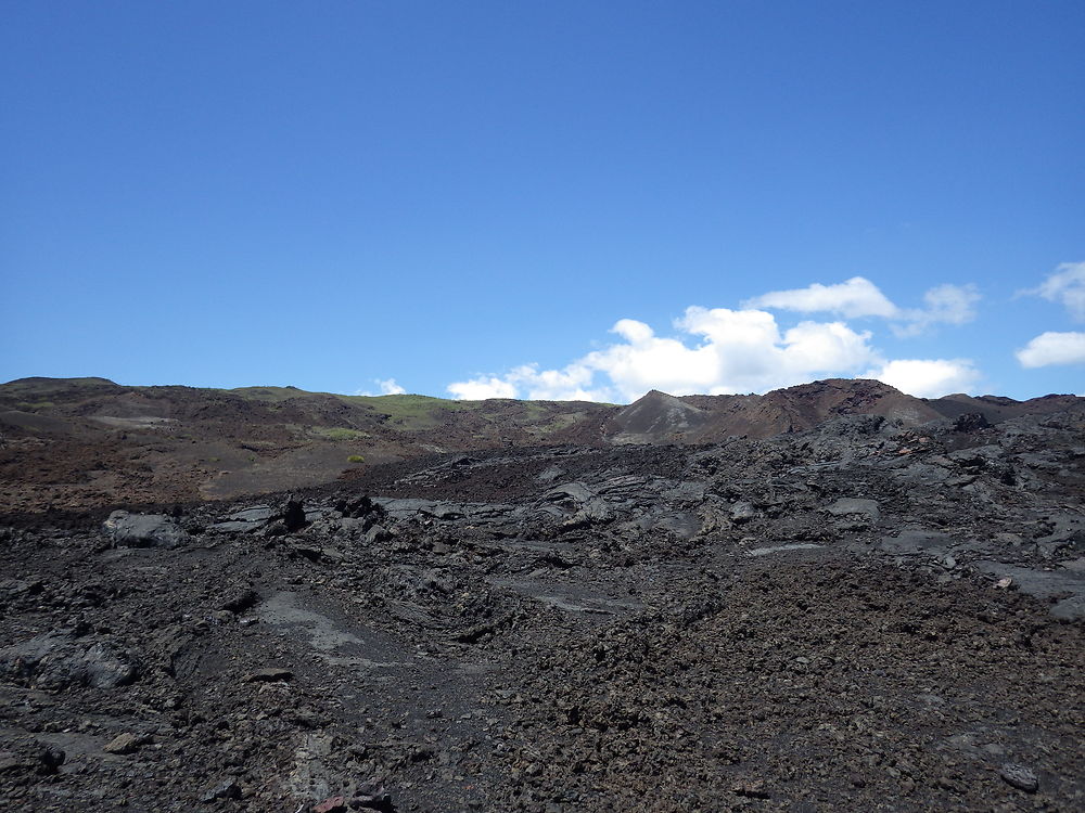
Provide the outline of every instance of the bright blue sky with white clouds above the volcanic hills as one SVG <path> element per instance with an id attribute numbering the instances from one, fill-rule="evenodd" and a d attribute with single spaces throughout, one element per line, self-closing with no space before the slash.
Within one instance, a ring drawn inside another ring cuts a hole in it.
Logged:
<path id="1" fill-rule="evenodd" d="M 9 0 L 0 379 L 1085 392 L 1083 37 L 1070 1 Z"/>

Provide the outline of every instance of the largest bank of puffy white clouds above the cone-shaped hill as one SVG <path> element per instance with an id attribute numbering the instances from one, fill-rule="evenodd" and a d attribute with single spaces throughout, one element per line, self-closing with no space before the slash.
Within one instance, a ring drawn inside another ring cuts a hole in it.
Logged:
<path id="1" fill-rule="evenodd" d="M 929 397 L 968 390 L 980 374 L 967 359 L 886 359 L 870 331 L 844 320 L 878 317 L 898 335 L 930 325 L 962 324 L 975 317 L 980 294 L 973 285 L 940 285 L 923 295 L 923 307 L 902 309 L 869 280 L 815 283 L 776 291 L 738 309 L 693 306 L 674 321 L 673 335 L 659 335 L 635 319 L 618 320 L 615 340 L 570 364 L 542 370 L 525 364 L 503 375 L 455 382 L 455 398 L 631 401 L 651 389 L 672 395 L 765 392 L 815 378 L 866 373 L 912 395 Z M 833 321 L 805 319 L 781 326 L 771 310 L 831 313 Z"/>

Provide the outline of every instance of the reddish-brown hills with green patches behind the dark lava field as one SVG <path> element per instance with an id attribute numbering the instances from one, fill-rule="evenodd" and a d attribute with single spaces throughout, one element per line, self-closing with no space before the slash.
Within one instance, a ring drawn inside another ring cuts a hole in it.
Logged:
<path id="1" fill-rule="evenodd" d="M 962 414 L 998 423 L 1083 400 L 924 400 L 879 382 L 830 379 L 764 396 L 652 391 L 615 406 L 21 378 L 0 385 L 0 500 L 9 511 L 41 511 L 226 499 L 315 486 L 427 454 L 767 438 L 854 414 L 904 425 Z"/>

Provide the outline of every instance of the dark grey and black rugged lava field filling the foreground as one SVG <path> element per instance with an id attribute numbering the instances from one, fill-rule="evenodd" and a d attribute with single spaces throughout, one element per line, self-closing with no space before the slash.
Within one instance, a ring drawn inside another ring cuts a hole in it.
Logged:
<path id="1" fill-rule="evenodd" d="M 9 514 L 0 808 L 1080 811 L 1083 494 L 1078 405 Z"/>

